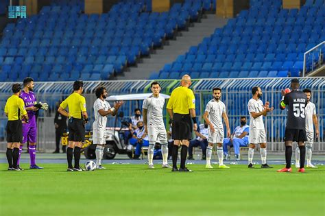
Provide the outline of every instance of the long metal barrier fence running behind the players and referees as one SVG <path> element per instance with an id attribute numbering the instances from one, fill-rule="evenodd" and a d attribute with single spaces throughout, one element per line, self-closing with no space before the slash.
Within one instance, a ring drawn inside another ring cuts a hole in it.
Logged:
<path id="1" fill-rule="evenodd" d="M 221 100 L 226 104 L 230 129 L 239 125 L 241 116 L 248 117 L 247 104 L 252 97 L 251 89 L 253 86 L 260 86 L 263 91 L 263 102 L 269 101 L 274 106 L 274 111 L 264 117 L 265 129 L 267 131 L 267 142 L 269 151 L 279 152 L 284 150 L 282 138 L 284 136 L 286 111 L 278 108 L 281 99 L 281 89 L 288 88 L 291 78 L 245 78 L 245 79 L 204 79 L 193 80 L 191 88 L 196 97 L 196 112 L 200 121 L 207 102 L 212 99 L 212 88 L 219 86 L 222 89 Z M 123 95 L 130 93 L 150 92 L 150 84 L 153 80 L 132 80 L 132 81 L 98 81 L 84 82 L 84 96 L 86 97 L 87 112 L 91 122 L 86 126 L 91 130 L 93 121 L 93 103 L 96 99 L 95 89 L 97 86 L 104 85 L 108 89 L 109 95 Z M 178 80 L 158 80 L 162 86 L 162 93 L 170 94 L 173 88 L 179 86 Z M 7 119 L 3 114 L 6 99 L 10 97 L 12 83 L 0 83 L 0 143 L 5 143 L 5 123 Z M 56 110 L 56 102 L 66 98 L 72 92 L 73 82 L 36 82 L 34 93 L 38 101 L 46 101 L 50 109 L 47 112 L 41 110 L 38 115 L 38 150 L 53 149 L 55 146 L 55 129 L 53 118 Z M 325 121 L 325 77 L 301 77 L 301 88 L 311 88 L 313 91 L 312 99 L 316 106 L 318 123 L 320 125 L 320 138 L 315 140 L 313 149 L 315 152 L 325 152 L 324 142 L 324 121 Z M 133 115 L 134 108 L 141 108 L 142 101 L 126 101 L 121 111 L 125 117 Z M 166 111 L 164 109 L 166 117 Z M 115 118 L 108 117 L 108 126 L 114 125 Z M 165 124 L 167 118 L 165 118 Z M 167 124 L 166 124 L 167 125 Z M 1 149 L 5 145 L 1 145 Z"/>

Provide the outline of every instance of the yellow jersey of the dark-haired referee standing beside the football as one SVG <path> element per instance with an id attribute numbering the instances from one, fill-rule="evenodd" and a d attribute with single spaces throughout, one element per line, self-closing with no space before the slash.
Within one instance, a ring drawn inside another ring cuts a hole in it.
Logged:
<path id="1" fill-rule="evenodd" d="M 67 106 L 69 108 L 70 117 L 82 119 L 81 112 L 86 112 L 86 99 L 78 93 L 72 93 L 60 104 L 60 107 L 63 109 L 67 108 Z"/>

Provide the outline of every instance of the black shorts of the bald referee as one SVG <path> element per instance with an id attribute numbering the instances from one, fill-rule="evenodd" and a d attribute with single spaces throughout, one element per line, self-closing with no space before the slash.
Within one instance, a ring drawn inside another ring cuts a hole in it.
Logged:
<path id="1" fill-rule="evenodd" d="M 183 115 L 174 113 L 173 126 L 171 128 L 171 138 L 176 140 L 191 140 L 193 125 L 189 114 Z"/>

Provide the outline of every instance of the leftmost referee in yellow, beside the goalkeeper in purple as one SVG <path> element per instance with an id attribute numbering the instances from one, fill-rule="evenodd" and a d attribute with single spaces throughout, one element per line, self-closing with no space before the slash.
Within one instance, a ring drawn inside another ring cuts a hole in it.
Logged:
<path id="1" fill-rule="evenodd" d="M 5 115 L 8 117 L 6 128 L 8 143 L 6 156 L 9 165 L 8 170 L 20 171 L 17 162 L 19 158 L 19 147 L 23 142 L 23 123 L 21 122 L 21 118 L 28 122 L 28 115 L 25 110 L 25 103 L 19 97 L 21 84 L 13 84 L 12 92 L 14 94 L 5 103 Z"/>

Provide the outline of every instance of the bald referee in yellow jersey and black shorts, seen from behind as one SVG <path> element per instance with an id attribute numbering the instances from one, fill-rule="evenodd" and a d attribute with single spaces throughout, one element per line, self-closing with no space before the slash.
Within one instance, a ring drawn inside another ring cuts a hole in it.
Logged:
<path id="1" fill-rule="evenodd" d="M 189 140 L 192 139 L 193 130 L 197 130 L 197 124 L 195 97 L 193 91 L 189 89 L 189 86 L 191 86 L 191 77 L 189 75 L 183 75 L 180 81 L 180 87 L 173 90 L 167 104 L 167 112 L 171 121 L 173 121 L 171 130 L 171 137 L 174 139 L 172 153 L 173 169 L 171 171 L 191 171 L 185 167 L 185 162 Z M 180 169 L 178 169 L 177 158 L 180 142 L 182 142 L 182 149 L 180 151 Z"/>

